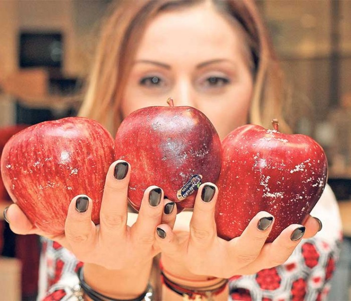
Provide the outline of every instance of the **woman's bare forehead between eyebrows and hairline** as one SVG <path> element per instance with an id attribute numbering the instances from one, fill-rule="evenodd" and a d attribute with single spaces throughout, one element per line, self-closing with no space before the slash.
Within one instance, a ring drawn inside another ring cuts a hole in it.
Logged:
<path id="1" fill-rule="evenodd" d="M 211 5 L 160 12 L 146 27 L 137 59 L 233 57 L 243 48 L 240 32 Z"/>

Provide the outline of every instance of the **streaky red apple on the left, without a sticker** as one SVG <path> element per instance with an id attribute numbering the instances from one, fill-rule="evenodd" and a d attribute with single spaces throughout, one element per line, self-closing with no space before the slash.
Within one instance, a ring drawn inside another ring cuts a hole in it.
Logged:
<path id="1" fill-rule="evenodd" d="M 67 117 L 15 134 L 5 145 L 1 173 L 12 200 L 48 234 L 61 234 L 68 205 L 78 194 L 93 200 L 99 223 L 104 182 L 114 141 L 97 121 Z"/>

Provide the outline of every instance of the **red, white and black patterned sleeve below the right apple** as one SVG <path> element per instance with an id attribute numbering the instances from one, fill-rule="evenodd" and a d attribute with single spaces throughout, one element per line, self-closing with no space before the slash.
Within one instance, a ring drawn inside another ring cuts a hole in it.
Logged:
<path id="1" fill-rule="evenodd" d="M 289 260 L 256 275 L 230 280 L 233 300 L 325 300 L 335 270 L 340 240 L 333 246 L 317 238 L 303 240 Z"/>

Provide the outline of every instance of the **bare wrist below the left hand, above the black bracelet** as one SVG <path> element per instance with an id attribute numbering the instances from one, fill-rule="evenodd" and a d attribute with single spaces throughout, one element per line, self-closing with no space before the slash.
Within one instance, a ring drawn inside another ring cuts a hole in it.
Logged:
<path id="1" fill-rule="evenodd" d="M 116 299 L 133 299 L 142 294 L 147 285 L 152 261 L 131 269 L 110 270 L 85 263 L 85 282 L 95 291 Z"/>

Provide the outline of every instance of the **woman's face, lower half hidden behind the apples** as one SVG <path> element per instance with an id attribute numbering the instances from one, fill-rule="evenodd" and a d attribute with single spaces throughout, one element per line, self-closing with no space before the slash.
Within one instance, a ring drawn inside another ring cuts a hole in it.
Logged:
<path id="1" fill-rule="evenodd" d="M 248 119 L 253 79 L 244 39 L 210 5 L 159 14 L 146 28 L 126 85 L 123 116 L 152 105 L 192 106 L 221 139 Z"/>

